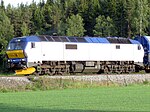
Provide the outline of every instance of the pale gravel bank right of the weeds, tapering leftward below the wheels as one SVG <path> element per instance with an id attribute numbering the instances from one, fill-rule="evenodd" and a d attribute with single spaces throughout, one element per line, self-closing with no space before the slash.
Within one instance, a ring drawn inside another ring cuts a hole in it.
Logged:
<path id="1" fill-rule="evenodd" d="M 38 78 L 38 77 L 37 77 Z M 124 75 L 83 75 L 83 76 L 49 76 L 49 78 L 72 79 L 79 81 L 114 83 L 128 85 L 134 83 L 144 83 L 150 81 L 150 74 L 124 74 Z"/>

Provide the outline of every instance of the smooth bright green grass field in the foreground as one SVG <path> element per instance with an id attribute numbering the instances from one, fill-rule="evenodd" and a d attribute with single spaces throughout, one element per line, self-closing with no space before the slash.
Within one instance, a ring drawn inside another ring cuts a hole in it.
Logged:
<path id="1" fill-rule="evenodd" d="M 149 112 L 150 86 L 0 93 L 0 112 Z"/>

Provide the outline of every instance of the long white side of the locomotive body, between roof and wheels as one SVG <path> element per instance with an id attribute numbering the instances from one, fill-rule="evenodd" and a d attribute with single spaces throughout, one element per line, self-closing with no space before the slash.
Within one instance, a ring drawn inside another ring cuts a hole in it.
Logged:
<path id="1" fill-rule="evenodd" d="M 28 62 L 42 61 L 134 61 L 143 62 L 141 44 L 74 43 L 74 42 L 28 42 L 25 52 Z M 77 48 L 66 49 L 66 45 Z M 116 46 L 120 46 L 117 49 Z M 138 49 L 140 46 L 141 49 Z"/>

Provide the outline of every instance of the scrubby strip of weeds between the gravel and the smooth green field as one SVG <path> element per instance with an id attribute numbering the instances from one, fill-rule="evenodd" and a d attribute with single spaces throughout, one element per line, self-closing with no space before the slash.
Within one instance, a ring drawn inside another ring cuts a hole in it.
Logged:
<path id="1" fill-rule="evenodd" d="M 30 78 L 31 83 L 23 83 L 22 81 L 3 80 L 0 83 L 0 92 L 17 92 L 17 91 L 38 91 L 38 90 L 54 90 L 54 89 L 68 89 L 68 88 L 92 88 L 100 86 L 117 86 L 111 82 L 88 82 L 76 81 L 74 79 L 51 79 L 40 77 L 35 79 L 34 76 Z M 149 83 L 146 83 L 149 84 Z"/>

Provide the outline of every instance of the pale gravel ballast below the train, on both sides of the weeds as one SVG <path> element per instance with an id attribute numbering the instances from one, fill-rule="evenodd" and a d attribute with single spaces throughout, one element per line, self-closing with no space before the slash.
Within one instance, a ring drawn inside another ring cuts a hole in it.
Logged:
<path id="1" fill-rule="evenodd" d="M 32 77 L 38 78 L 51 78 L 51 79 L 70 79 L 88 82 L 107 82 L 119 85 L 128 85 L 134 83 L 143 83 L 150 81 L 150 74 L 131 74 L 131 75 L 83 75 L 83 76 L 40 76 Z M 0 77 L 0 87 L 15 87 L 25 86 L 32 83 L 29 77 Z"/>

